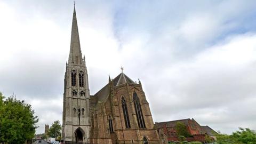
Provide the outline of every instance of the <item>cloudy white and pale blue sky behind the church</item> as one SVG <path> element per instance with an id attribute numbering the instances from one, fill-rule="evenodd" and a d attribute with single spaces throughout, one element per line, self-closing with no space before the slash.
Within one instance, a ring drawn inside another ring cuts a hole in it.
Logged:
<path id="1" fill-rule="evenodd" d="M 154 122 L 194 118 L 231 133 L 256 129 L 255 1 L 76 1 L 90 94 L 124 73 Z M 62 120 L 73 1 L 0 0 L 0 91 Z"/>

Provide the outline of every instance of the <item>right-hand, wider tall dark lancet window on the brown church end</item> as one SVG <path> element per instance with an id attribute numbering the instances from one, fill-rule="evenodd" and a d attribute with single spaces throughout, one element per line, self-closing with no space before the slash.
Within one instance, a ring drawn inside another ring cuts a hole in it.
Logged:
<path id="1" fill-rule="evenodd" d="M 133 103 L 134 103 L 135 113 L 136 113 L 139 127 L 146 128 L 142 110 L 141 110 L 141 106 L 140 106 L 140 99 L 136 92 L 133 93 Z"/>

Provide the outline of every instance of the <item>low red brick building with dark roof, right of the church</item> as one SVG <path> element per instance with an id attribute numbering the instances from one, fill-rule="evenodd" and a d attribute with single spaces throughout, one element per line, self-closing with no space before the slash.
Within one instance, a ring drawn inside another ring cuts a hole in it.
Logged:
<path id="1" fill-rule="evenodd" d="M 205 134 L 213 138 L 214 138 L 214 135 L 217 134 L 217 132 L 212 130 L 209 126 L 199 125 L 193 118 L 155 123 L 156 129 L 158 131 L 158 134 L 162 143 L 164 143 L 165 137 L 167 138 L 167 141 L 178 141 L 178 135 L 176 131 L 176 124 L 178 122 L 183 123 L 186 126 L 188 133 L 191 135 L 191 137 L 186 138 L 187 141 L 203 142 L 205 141 Z"/>

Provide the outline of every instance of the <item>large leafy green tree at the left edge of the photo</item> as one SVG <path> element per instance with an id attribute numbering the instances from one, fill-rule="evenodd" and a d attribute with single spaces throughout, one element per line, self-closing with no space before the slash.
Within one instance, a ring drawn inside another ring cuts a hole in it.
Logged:
<path id="1" fill-rule="evenodd" d="M 9 144 L 23 144 L 34 138 L 37 116 L 31 105 L 13 96 L 4 99 L 0 93 L 0 141 Z"/>

